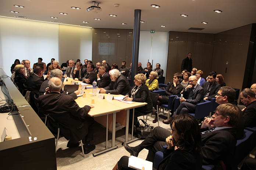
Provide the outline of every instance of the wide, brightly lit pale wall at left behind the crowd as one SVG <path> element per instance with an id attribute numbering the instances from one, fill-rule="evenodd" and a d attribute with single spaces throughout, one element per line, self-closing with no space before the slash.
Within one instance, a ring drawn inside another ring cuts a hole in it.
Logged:
<path id="1" fill-rule="evenodd" d="M 82 62 L 85 58 L 92 59 L 90 28 L 3 17 L 0 17 L 0 23 L 0 67 L 2 65 L 9 76 L 15 59 L 28 59 L 31 67 L 38 57 L 46 64 L 51 58 L 60 64 L 67 59 L 81 59 Z M 63 45 L 65 43 L 67 45 Z M 79 46 L 79 51 L 74 45 Z M 69 58 L 61 55 L 67 51 L 75 55 L 69 55 Z"/>

